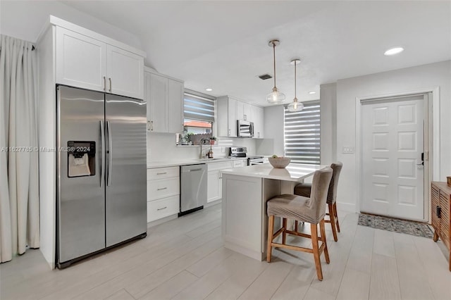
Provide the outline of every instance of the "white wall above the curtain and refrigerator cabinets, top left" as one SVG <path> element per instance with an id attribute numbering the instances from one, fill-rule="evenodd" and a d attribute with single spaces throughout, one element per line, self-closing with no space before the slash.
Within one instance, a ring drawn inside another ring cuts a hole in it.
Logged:
<path id="1" fill-rule="evenodd" d="M 3 35 L 36 42 L 49 15 L 111 37 L 119 42 L 142 49 L 140 39 L 130 32 L 77 11 L 60 1 L 4 1 L 0 2 L 0 32 Z"/>

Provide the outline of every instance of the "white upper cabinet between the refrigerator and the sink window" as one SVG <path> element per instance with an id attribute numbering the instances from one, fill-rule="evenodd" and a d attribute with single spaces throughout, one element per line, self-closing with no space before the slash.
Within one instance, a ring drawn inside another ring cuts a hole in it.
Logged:
<path id="1" fill-rule="evenodd" d="M 161 74 L 144 72 L 147 130 L 183 132 L 183 82 Z"/>

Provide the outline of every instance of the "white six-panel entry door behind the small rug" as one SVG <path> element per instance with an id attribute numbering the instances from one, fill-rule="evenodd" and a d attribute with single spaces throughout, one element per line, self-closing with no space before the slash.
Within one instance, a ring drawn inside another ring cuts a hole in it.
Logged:
<path id="1" fill-rule="evenodd" d="M 362 212 L 426 220 L 424 95 L 362 103 Z"/>

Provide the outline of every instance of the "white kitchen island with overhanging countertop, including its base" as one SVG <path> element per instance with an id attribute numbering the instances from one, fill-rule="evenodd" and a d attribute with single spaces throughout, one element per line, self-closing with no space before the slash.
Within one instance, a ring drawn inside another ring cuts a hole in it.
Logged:
<path id="1" fill-rule="evenodd" d="M 286 168 L 273 168 L 264 163 L 222 170 L 222 235 L 226 248 L 263 260 L 268 230 L 266 201 L 278 194 L 292 194 L 297 183 L 324 167 L 290 163 Z"/>

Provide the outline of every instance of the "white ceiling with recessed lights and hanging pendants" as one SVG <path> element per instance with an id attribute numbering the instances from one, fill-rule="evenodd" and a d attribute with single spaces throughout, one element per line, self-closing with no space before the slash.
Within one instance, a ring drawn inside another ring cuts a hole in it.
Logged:
<path id="1" fill-rule="evenodd" d="M 319 99 L 337 80 L 451 59 L 450 1 L 62 1 L 136 35 L 145 64 L 185 87 L 268 105 L 276 47 L 277 87 Z M 106 3 L 107 2 L 107 3 Z M 384 56 L 393 46 L 402 54 Z M 316 94 L 308 94 L 315 91 Z"/>

